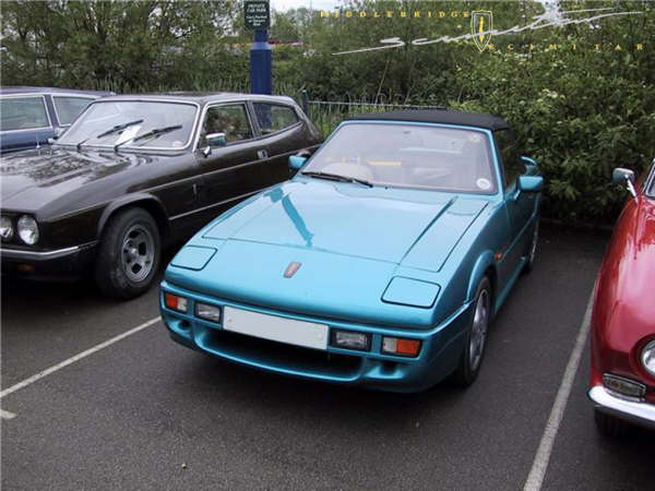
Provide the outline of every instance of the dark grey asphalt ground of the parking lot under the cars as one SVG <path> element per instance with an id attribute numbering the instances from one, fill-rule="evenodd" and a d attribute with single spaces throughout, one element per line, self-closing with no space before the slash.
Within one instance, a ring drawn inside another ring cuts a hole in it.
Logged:
<path id="1" fill-rule="evenodd" d="M 4 280 L 2 388 L 69 364 L 1 398 L 3 416 L 15 415 L 1 420 L 2 488 L 505 490 L 531 476 L 533 489 L 653 489 L 655 433 L 596 432 L 588 338 L 550 446 L 555 433 L 545 436 L 607 240 L 544 227 L 477 382 L 415 395 L 284 379 L 186 349 L 159 322 L 144 327 L 158 315 L 156 289 L 119 303 L 86 284 Z"/>

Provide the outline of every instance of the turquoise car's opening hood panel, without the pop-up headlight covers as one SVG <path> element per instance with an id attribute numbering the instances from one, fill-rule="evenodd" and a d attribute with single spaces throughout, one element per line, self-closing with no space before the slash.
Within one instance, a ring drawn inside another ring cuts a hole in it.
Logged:
<path id="1" fill-rule="evenodd" d="M 420 267 L 414 252 L 433 231 L 428 268 L 439 270 L 486 204 L 448 193 L 291 181 L 219 219 L 203 236 Z"/>

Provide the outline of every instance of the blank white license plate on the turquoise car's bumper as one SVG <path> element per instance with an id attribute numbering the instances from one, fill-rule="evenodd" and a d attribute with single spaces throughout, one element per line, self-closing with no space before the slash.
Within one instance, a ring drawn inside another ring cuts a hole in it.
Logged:
<path id="1" fill-rule="evenodd" d="M 327 326 L 225 307 L 223 328 L 306 348 L 327 349 Z"/>

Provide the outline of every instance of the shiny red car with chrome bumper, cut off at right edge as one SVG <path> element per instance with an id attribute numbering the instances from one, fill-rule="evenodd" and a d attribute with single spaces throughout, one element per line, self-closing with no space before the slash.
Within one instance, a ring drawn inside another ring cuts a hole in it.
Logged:
<path id="1" fill-rule="evenodd" d="M 631 194 L 605 254 L 592 315 L 592 381 L 598 430 L 626 421 L 655 429 L 655 160 L 645 179 L 615 169 Z"/>

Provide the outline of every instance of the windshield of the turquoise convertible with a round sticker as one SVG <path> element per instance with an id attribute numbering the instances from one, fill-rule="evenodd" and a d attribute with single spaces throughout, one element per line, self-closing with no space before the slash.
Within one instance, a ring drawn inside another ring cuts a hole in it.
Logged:
<path id="1" fill-rule="evenodd" d="M 344 124 L 302 172 L 451 192 L 492 194 L 497 189 L 485 133 L 431 124 Z"/>

